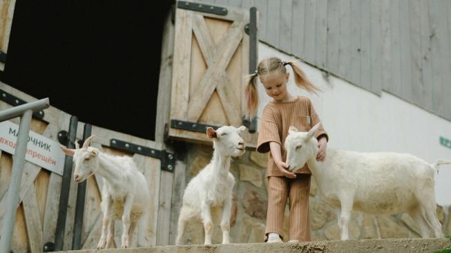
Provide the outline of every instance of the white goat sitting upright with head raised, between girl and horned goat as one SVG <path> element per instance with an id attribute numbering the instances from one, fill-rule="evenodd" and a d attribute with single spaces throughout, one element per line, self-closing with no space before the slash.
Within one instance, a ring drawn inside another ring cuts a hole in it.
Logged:
<path id="1" fill-rule="evenodd" d="M 246 127 L 220 127 L 214 131 L 207 129 L 208 138 L 213 139 L 213 158 L 186 186 L 182 209 L 178 219 L 175 243 L 183 243 L 186 225 L 191 221 L 200 221 L 204 225 L 204 244 L 211 244 L 213 224 L 221 221 L 222 243 L 230 243 L 230 216 L 232 207 L 232 189 L 235 178 L 230 173 L 232 156 L 244 153 L 244 141 L 240 134 Z"/>

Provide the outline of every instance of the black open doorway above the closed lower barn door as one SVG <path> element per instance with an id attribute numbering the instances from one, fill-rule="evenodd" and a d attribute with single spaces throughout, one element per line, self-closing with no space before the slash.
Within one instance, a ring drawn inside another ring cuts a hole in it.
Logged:
<path id="1" fill-rule="evenodd" d="M 173 1 L 18 0 L 1 81 L 80 122 L 155 140 Z"/>

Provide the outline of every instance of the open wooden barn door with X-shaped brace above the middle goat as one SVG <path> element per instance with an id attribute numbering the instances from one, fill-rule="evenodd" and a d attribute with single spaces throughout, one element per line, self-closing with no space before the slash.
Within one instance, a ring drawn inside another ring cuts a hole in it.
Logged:
<path id="1" fill-rule="evenodd" d="M 249 10 L 177 1 L 169 138 L 205 142 L 206 127 L 240 127 L 249 74 Z M 256 133 L 247 133 L 255 147 Z"/>

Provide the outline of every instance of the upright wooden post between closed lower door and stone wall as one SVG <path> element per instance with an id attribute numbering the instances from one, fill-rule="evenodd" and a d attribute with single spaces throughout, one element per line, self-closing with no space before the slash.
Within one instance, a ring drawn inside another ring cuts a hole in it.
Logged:
<path id="1" fill-rule="evenodd" d="M 178 156 L 183 157 L 180 151 L 177 151 Z M 183 194 L 186 188 L 186 164 L 184 161 L 175 160 L 175 171 L 173 176 L 172 201 L 171 201 L 171 234 L 169 236 L 170 245 L 175 244 L 175 237 L 177 236 L 178 217 L 180 209 L 182 209 Z M 166 191 L 169 189 L 166 189 Z"/>

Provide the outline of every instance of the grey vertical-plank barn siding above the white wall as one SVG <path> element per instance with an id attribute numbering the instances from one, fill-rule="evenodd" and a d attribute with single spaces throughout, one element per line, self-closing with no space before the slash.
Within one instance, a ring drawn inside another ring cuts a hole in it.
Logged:
<path id="1" fill-rule="evenodd" d="M 202 0 L 260 12 L 260 41 L 451 120 L 451 1 Z"/>

